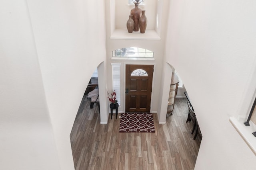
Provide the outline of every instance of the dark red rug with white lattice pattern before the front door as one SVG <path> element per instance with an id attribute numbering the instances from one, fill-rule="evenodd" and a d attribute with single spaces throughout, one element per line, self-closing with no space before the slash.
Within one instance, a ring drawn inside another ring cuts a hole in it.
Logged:
<path id="1" fill-rule="evenodd" d="M 122 113 L 119 132 L 155 132 L 152 113 Z"/>

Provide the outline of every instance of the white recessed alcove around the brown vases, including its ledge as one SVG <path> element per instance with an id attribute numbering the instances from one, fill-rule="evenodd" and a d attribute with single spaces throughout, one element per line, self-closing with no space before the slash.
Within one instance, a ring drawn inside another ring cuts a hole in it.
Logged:
<path id="1" fill-rule="evenodd" d="M 160 40 L 162 0 L 144 0 L 144 5 L 139 5 L 139 8 L 146 11 L 148 19 L 145 33 L 140 31 L 128 33 L 126 22 L 132 8 L 134 5 L 129 5 L 128 0 L 110 0 L 110 39 Z"/>

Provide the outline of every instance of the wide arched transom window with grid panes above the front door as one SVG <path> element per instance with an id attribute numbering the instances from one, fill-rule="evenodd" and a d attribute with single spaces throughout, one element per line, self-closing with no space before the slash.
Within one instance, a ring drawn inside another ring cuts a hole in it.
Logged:
<path id="1" fill-rule="evenodd" d="M 154 52 L 138 47 L 126 47 L 112 51 L 113 58 L 154 58 Z"/>

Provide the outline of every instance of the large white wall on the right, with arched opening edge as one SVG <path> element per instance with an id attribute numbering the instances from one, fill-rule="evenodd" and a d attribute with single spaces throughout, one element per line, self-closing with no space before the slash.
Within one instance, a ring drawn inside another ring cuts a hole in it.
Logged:
<path id="1" fill-rule="evenodd" d="M 166 58 L 186 84 L 203 134 L 196 170 L 255 169 L 255 155 L 229 122 L 246 114 L 255 91 L 255 9 L 254 0 L 171 1 Z"/>

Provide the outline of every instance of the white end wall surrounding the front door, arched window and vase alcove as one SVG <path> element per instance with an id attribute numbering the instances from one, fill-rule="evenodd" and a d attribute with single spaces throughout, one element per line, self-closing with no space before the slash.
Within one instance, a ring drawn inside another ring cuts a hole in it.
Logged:
<path id="1" fill-rule="evenodd" d="M 166 22 L 162 22 L 162 25 L 156 29 L 161 33 L 160 40 L 159 39 L 132 39 L 127 37 L 126 39 L 110 39 L 112 31 L 113 31 L 113 23 L 116 23 L 116 29 L 122 29 L 124 32 L 127 31 L 126 28 L 126 21 L 128 20 L 128 16 L 130 14 L 130 10 L 133 8 L 133 6 L 127 6 L 128 1 L 119 1 L 116 0 L 114 3 L 114 0 L 106 0 L 106 49 L 107 49 L 107 71 L 108 73 L 108 91 L 112 91 L 112 68 L 111 68 L 111 63 L 121 63 L 121 99 L 124 99 L 124 89 L 125 89 L 125 76 L 124 76 L 124 70 L 125 70 L 125 64 L 154 64 L 155 69 L 154 69 L 154 80 L 153 80 L 153 92 L 152 92 L 152 106 L 151 106 L 151 111 L 153 113 L 156 113 L 158 111 L 158 101 L 159 98 L 161 97 L 160 94 L 160 89 L 161 89 L 161 79 L 162 79 L 162 59 L 164 56 L 164 43 L 165 43 L 165 28 L 166 28 Z M 152 3 L 152 4 L 151 4 Z M 150 15 L 154 14 L 151 17 L 148 17 L 148 23 L 152 22 L 154 23 L 152 26 L 147 26 L 147 29 L 155 29 L 155 21 L 156 21 L 156 8 L 158 9 L 158 12 L 162 12 L 163 14 L 168 13 L 168 8 L 166 7 L 166 4 L 168 4 L 168 0 L 164 0 L 164 2 L 158 3 L 156 1 L 145 1 L 145 7 L 147 8 L 146 10 Z M 156 6 L 157 5 L 157 6 Z M 158 5 L 161 7 L 158 8 Z M 162 11 L 160 11 L 162 9 Z M 113 16 L 115 12 L 115 21 Z M 110 14 L 109 14 L 110 13 Z M 147 12 L 146 12 L 147 15 Z M 122 18 L 123 16 L 124 18 Z M 127 17 L 126 17 L 127 16 Z M 120 18 L 122 20 L 120 20 Z M 167 16 L 158 16 L 161 20 L 164 20 L 167 18 Z M 151 23 L 150 23 L 151 24 Z M 118 26 L 120 25 L 120 26 Z M 121 26 L 123 25 L 123 26 Z M 145 34 L 146 35 L 146 34 Z M 146 38 L 151 38 L 145 36 Z M 144 38 L 145 38 L 144 37 Z M 145 61 L 145 60 L 112 60 L 112 51 L 124 47 L 140 47 L 144 49 L 148 49 L 150 51 L 154 52 L 154 59 L 155 61 Z M 124 112 L 124 100 L 118 107 L 118 112 Z"/>

